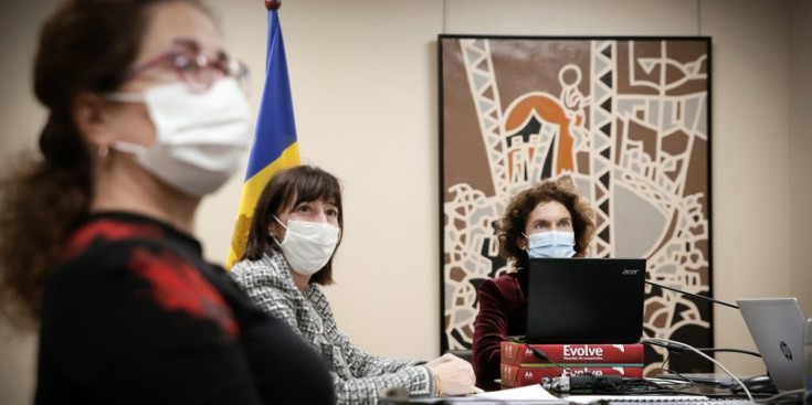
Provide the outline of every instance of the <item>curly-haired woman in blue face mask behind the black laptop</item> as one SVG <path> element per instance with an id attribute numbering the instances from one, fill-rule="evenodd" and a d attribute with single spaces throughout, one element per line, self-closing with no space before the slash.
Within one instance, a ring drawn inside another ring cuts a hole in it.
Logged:
<path id="1" fill-rule="evenodd" d="M 527 260 L 583 257 L 594 234 L 592 210 L 569 180 L 547 180 L 517 194 L 495 224 L 499 255 L 515 271 L 479 286 L 479 312 L 474 321 L 474 370 L 477 385 L 497 388 L 499 344 L 525 334 Z"/>

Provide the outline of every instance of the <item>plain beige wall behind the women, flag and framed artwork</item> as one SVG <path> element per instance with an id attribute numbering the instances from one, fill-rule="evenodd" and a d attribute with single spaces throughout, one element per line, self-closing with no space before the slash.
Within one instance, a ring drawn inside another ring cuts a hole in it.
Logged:
<path id="1" fill-rule="evenodd" d="M 254 72 L 256 110 L 262 2 L 209 2 Z M 33 147 L 43 124 L 29 72 L 36 26 L 54 3 L 0 6 L 1 161 Z M 327 294 L 341 329 L 369 352 L 439 352 L 439 33 L 713 36 L 715 296 L 797 296 L 812 311 L 809 1 L 307 0 L 286 1 L 281 18 L 303 160 L 345 185 L 338 284 Z M 199 236 L 218 262 L 240 182 L 199 212 Z M 717 308 L 715 317 L 717 347 L 753 348 L 738 312 Z M 756 359 L 719 359 L 736 372 L 762 371 Z M 0 403 L 29 402 L 33 361 L 33 338 L 0 324 Z"/>

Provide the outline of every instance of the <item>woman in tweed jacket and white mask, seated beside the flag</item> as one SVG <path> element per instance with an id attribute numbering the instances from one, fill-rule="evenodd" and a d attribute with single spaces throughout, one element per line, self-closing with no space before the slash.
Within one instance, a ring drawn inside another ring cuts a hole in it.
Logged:
<path id="1" fill-rule="evenodd" d="M 333 257 L 344 216 L 338 180 L 299 166 L 274 174 L 254 210 L 249 241 L 230 271 L 260 308 L 284 320 L 328 361 L 339 404 L 375 404 L 383 388 L 411 395 L 471 392 L 474 371 L 445 354 L 429 363 L 390 360 L 363 352 L 336 326 L 319 286 L 333 284 Z"/>

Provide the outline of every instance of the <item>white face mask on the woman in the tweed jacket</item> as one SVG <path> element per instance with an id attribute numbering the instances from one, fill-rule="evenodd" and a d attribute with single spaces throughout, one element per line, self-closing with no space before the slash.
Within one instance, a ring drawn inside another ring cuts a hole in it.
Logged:
<path id="1" fill-rule="evenodd" d="M 274 220 L 287 230 L 282 243 L 275 237 L 274 241 L 282 247 L 292 270 L 303 276 L 313 276 L 330 260 L 338 244 L 338 226 L 324 222 L 291 220 L 285 226 L 275 215 Z"/>

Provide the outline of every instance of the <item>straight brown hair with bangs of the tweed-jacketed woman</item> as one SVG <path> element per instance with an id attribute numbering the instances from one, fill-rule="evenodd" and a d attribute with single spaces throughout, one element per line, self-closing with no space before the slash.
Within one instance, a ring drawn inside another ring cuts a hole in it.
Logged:
<path id="1" fill-rule="evenodd" d="M 259 260 L 265 253 L 282 252 L 267 230 L 273 223 L 274 215 L 278 216 L 283 210 L 296 206 L 299 203 L 325 200 L 335 203 L 338 209 L 338 245 L 344 236 L 344 210 L 341 209 L 341 185 L 335 175 L 313 166 L 297 166 L 276 172 L 262 190 L 254 216 L 251 219 L 249 242 L 245 245 L 241 260 Z M 333 253 L 335 256 L 335 252 Z M 323 286 L 333 284 L 333 257 L 316 274 L 309 283 Z"/>

